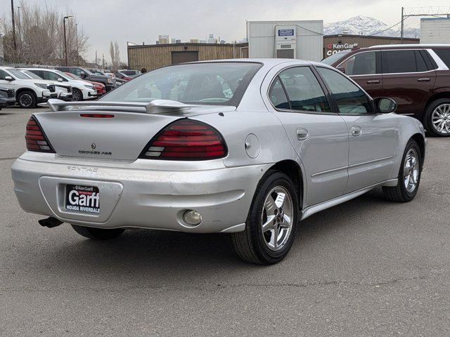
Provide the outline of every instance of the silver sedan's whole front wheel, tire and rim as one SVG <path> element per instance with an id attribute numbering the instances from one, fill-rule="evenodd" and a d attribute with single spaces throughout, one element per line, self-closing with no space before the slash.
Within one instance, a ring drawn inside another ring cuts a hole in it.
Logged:
<path id="1" fill-rule="evenodd" d="M 395 202 L 408 202 L 416 197 L 422 173 L 422 155 L 416 140 L 409 140 L 399 169 L 397 186 L 383 186 L 385 198 Z"/>

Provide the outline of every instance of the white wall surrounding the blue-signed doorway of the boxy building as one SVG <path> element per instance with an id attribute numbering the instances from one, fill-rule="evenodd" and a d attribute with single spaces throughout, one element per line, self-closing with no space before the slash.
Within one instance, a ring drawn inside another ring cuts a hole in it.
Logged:
<path id="1" fill-rule="evenodd" d="M 323 58 L 323 20 L 249 21 L 249 57 L 274 58 L 276 27 L 283 25 L 296 27 L 296 58 L 312 61 Z"/>

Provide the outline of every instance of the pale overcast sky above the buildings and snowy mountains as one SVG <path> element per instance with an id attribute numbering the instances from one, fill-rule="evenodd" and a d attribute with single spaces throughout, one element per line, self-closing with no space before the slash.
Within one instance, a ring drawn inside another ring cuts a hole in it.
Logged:
<path id="1" fill-rule="evenodd" d="M 324 23 L 367 15 L 393 25 L 401 19 L 401 6 L 449 6 L 448 0 L 25 0 L 59 8 L 75 15 L 89 34 L 86 58 L 110 59 L 110 40 L 117 40 L 121 58 L 127 59 L 127 41 L 154 44 L 158 34 L 171 38 L 207 39 L 209 33 L 226 41 L 245 37 L 249 20 L 323 20 Z M 20 0 L 15 0 L 15 6 Z M 0 0 L 0 15 L 11 17 L 11 0 Z"/>

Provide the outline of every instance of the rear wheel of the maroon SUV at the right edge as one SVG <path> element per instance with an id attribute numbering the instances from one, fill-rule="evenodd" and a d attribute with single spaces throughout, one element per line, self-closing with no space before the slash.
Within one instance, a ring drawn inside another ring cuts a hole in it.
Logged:
<path id="1" fill-rule="evenodd" d="M 444 119 L 441 121 L 441 119 Z M 423 124 L 433 136 L 450 136 L 450 98 L 434 100 L 425 109 Z M 441 126 L 444 128 L 442 129 Z"/>

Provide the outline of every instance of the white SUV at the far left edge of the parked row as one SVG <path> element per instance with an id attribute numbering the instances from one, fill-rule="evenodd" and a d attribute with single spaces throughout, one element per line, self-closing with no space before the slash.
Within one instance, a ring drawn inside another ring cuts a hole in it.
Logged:
<path id="1" fill-rule="evenodd" d="M 11 67 L 0 67 L 0 86 L 15 90 L 15 98 L 20 107 L 35 107 L 49 98 L 57 98 L 56 88 L 46 81 L 30 79 L 27 75 Z"/>

